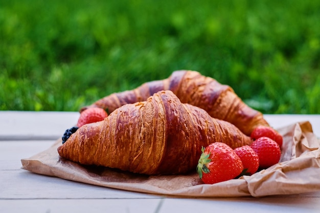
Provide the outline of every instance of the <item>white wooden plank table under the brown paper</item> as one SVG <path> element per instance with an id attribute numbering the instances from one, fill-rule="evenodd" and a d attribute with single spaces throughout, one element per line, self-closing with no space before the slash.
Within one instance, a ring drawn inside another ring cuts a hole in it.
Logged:
<path id="1" fill-rule="evenodd" d="M 0 212 L 320 212 L 320 192 L 264 198 L 177 198 L 115 190 L 21 168 L 76 124 L 78 112 L 0 111 Z M 320 115 L 265 115 L 278 128 Z M 319 177 L 320 181 L 320 177 Z"/>

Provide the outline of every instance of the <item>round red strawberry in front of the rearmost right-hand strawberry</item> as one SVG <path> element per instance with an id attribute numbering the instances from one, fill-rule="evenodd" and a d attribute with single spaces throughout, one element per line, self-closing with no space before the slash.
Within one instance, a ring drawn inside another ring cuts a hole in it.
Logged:
<path id="1" fill-rule="evenodd" d="M 269 137 L 259 137 L 252 143 L 251 147 L 259 156 L 260 168 L 271 167 L 280 160 L 280 147 L 275 140 Z"/>

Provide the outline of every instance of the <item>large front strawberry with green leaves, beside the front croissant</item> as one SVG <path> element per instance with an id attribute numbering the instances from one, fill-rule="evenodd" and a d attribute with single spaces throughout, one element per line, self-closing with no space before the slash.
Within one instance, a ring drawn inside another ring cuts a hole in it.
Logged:
<path id="1" fill-rule="evenodd" d="M 242 162 L 233 149 L 217 142 L 205 149 L 197 166 L 197 172 L 204 183 L 217 183 L 233 179 L 241 174 Z"/>

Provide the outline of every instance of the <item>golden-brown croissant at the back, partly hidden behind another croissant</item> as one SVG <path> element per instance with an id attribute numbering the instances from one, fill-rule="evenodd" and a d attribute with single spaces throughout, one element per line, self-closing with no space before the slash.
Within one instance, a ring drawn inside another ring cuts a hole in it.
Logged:
<path id="1" fill-rule="evenodd" d="M 230 86 L 188 70 L 177 70 L 167 79 L 147 82 L 133 90 L 112 93 L 80 111 L 101 107 L 110 113 L 124 104 L 145 101 L 161 90 L 173 91 L 182 103 L 200 107 L 212 117 L 234 124 L 246 135 L 257 126 L 269 126 L 263 114 L 247 106 Z"/>

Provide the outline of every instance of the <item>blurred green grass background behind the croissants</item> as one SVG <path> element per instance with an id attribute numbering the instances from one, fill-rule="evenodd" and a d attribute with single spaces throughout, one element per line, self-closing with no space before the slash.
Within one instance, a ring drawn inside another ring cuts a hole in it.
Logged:
<path id="1" fill-rule="evenodd" d="M 263 113 L 320 113 L 320 1 L 0 0 L 0 110 L 78 111 L 192 69 Z"/>

